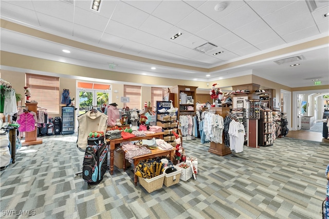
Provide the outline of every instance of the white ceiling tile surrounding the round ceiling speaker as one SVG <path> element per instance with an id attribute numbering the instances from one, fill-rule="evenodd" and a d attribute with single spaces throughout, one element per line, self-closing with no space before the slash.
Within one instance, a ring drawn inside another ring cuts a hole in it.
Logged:
<path id="1" fill-rule="evenodd" d="M 222 2 L 223 1 L 207 1 L 205 4 L 199 6 L 197 10 L 202 12 L 203 14 L 206 14 L 208 17 L 210 17 L 210 19 L 218 22 L 218 20 L 222 19 L 223 17 L 227 16 L 228 14 L 232 13 L 236 9 L 241 8 L 246 4 L 244 1 L 225 1 L 226 8 L 221 12 L 215 11 L 215 6 L 218 3 Z"/>

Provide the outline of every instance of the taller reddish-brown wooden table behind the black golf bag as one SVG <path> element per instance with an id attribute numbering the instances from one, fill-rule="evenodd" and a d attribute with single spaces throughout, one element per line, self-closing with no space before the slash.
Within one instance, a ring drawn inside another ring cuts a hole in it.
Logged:
<path id="1" fill-rule="evenodd" d="M 117 138 L 117 139 L 106 139 L 106 144 L 109 145 L 109 156 L 110 156 L 110 165 L 109 165 L 109 170 L 111 175 L 113 174 L 113 169 L 114 169 L 114 150 L 115 150 L 115 145 L 120 144 L 123 141 L 139 141 L 142 139 L 152 139 L 152 138 L 161 138 L 163 139 L 163 134 L 164 132 L 157 132 L 155 134 L 149 134 L 143 137 L 133 137 L 133 138 Z M 123 156 L 124 157 L 124 156 Z M 125 168 L 125 162 L 124 162 L 124 168 Z"/>

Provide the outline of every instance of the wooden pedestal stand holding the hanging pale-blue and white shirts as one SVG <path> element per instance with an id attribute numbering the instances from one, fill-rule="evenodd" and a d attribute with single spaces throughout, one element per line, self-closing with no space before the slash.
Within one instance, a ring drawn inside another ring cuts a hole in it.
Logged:
<path id="1" fill-rule="evenodd" d="M 230 107 L 210 107 L 209 111 L 214 112 L 215 114 L 218 114 L 225 118 L 227 113 L 230 112 Z M 223 143 L 210 142 L 208 152 L 219 156 L 226 156 L 228 154 L 231 154 L 231 149 L 229 147 L 226 147 L 226 145 L 224 144 L 224 136 L 222 136 L 222 138 Z"/>

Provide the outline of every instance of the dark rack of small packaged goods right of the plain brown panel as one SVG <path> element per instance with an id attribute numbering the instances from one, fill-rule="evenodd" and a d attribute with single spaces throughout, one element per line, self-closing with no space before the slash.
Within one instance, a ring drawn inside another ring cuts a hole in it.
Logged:
<path id="1" fill-rule="evenodd" d="M 261 146 L 273 145 L 272 138 L 272 111 L 261 109 L 260 120 L 258 120 L 259 135 L 258 143 Z"/>

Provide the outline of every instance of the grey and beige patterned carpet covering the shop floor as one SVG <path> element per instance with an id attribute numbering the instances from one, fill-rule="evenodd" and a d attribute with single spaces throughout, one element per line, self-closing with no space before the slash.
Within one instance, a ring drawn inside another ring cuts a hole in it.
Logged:
<path id="1" fill-rule="evenodd" d="M 2 218 L 321 218 L 327 143 L 279 138 L 221 157 L 185 141 L 187 156 L 198 158 L 197 179 L 148 193 L 134 186 L 132 168 L 88 186 L 75 175 L 83 157 L 76 139 L 46 136 L 17 152 L 1 171 Z"/>

